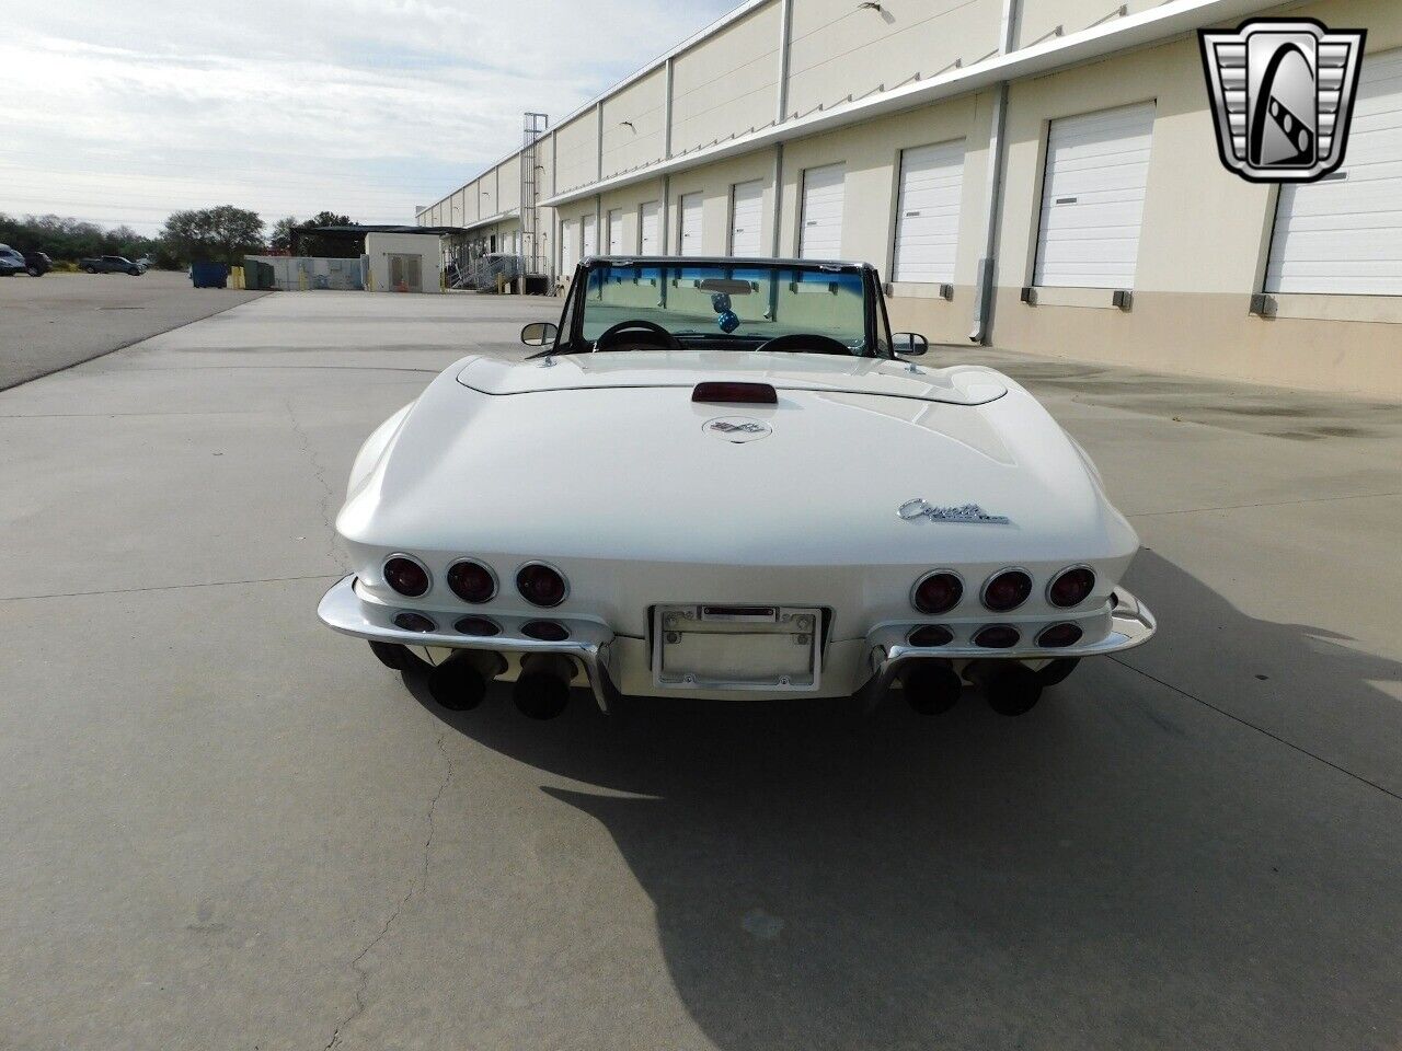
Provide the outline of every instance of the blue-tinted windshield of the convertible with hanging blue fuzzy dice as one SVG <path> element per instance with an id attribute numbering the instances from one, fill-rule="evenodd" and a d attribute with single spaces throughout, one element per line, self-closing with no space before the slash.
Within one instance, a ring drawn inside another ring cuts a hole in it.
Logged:
<path id="1" fill-rule="evenodd" d="M 868 356 L 861 270 L 767 263 L 594 263 L 583 286 L 582 335 L 625 321 L 660 325 L 683 343 L 754 349 L 784 335 L 817 335 Z M 872 328 L 878 328 L 872 325 Z M 802 352 L 802 341 L 785 349 Z M 819 348 L 815 348 L 819 349 Z M 829 353 L 836 348 L 830 348 Z"/>

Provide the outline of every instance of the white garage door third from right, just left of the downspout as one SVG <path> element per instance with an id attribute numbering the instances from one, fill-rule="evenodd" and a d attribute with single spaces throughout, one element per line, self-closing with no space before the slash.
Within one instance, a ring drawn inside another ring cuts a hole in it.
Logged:
<path id="1" fill-rule="evenodd" d="M 901 151 L 892 280 L 953 283 L 962 193 L 962 139 Z"/>

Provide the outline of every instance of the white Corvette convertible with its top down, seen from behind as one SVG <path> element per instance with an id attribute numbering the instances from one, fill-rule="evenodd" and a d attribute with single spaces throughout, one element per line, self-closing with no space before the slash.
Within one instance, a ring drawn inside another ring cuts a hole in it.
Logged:
<path id="1" fill-rule="evenodd" d="M 386 420 L 336 518 L 321 619 L 447 708 L 972 685 L 1018 715 L 1154 633 L 1085 453 L 1008 377 L 913 360 L 871 266 L 586 259 L 522 339 Z"/>

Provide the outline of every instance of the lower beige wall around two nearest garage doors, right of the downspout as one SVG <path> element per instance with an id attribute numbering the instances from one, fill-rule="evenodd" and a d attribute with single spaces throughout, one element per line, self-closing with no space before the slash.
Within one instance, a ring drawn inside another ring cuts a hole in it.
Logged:
<path id="1" fill-rule="evenodd" d="M 1402 6 L 1387 0 L 1311 4 L 1290 14 L 1366 25 L 1368 53 L 1402 46 Z M 1113 308 L 1108 290 L 1039 290 L 1039 305 L 1021 303 L 1036 251 L 1047 122 L 1143 101 L 1155 102 L 1155 121 L 1131 310 Z M 1014 84 L 1007 132 L 998 346 L 1402 397 L 1402 325 L 1392 297 L 1279 296 L 1279 317 L 1249 312 L 1251 296 L 1262 289 L 1276 192 L 1221 167 L 1196 41 Z"/>

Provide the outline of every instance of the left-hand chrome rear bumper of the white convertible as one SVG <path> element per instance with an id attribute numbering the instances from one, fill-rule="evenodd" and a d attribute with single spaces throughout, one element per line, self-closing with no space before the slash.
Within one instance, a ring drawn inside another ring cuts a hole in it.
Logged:
<path id="1" fill-rule="evenodd" d="M 352 573 L 338 580 L 321 597 L 317 617 L 332 631 L 372 642 L 390 642 L 400 646 L 444 646 L 454 650 L 492 650 L 495 653 L 561 653 L 578 660 L 589 680 L 589 689 L 600 710 L 608 712 L 611 701 L 618 696 L 613 682 L 610 660 L 613 659 L 614 633 L 593 621 L 559 619 L 569 629 L 564 642 L 541 642 L 522 635 L 522 625 L 538 621 L 540 617 L 492 617 L 502 626 L 501 635 L 461 635 L 456 631 L 409 632 L 394 625 L 394 615 L 402 610 L 387 605 L 360 594 Z M 456 596 L 454 596 L 456 597 Z M 419 612 L 419 611 L 411 611 Z M 423 611 L 433 618 L 436 611 Z M 454 615 L 453 619 L 460 619 Z"/>

